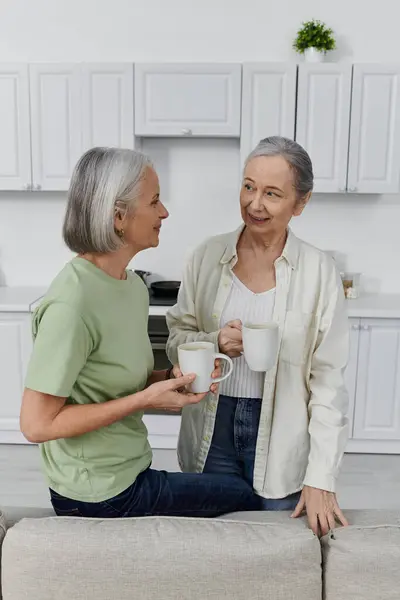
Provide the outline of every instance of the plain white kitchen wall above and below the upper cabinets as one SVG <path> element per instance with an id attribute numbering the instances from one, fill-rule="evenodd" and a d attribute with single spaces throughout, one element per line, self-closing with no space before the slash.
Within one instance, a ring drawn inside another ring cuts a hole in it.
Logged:
<path id="1" fill-rule="evenodd" d="M 333 58 L 396 61 L 397 0 L 3 0 L 1 61 L 294 60 L 300 22 L 321 18 L 337 32 Z M 179 277 L 184 257 L 208 235 L 238 224 L 235 140 L 148 140 L 171 217 L 161 246 L 135 266 Z M 69 253 L 60 229 L 64 194 L 0 193 L 0 278 L 47 285 Z M 400 293 L 400 196 L 315 196 L 294 230 L 347 254 L 369 289 Z M 0 279 L 1 281 L 1 279 Z"/>

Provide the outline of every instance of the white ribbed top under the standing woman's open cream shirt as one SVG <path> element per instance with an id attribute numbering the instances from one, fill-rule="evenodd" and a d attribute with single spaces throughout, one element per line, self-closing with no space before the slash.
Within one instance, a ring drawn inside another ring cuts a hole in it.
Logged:
<path id="1" fill-rule="evenodd" d="M 240 319 L 242 323 L 272 321 L 275 288 L 254 294 L 232 273 L 231 291 L 221 314 L 220 327 Z M 247 366 L 244 356 L 233 359 L 233 373 L 220 384 L 220 393 L 233 398 L 262 398 L 265 373 L 256 373 Z"/>

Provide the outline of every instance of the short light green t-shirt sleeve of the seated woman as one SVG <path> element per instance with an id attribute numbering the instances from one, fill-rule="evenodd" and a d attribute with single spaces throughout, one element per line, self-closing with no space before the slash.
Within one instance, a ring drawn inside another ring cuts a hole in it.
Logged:
<path id="1" fill-rule="evenodd" d="M 33 328 L 25 387 L 69 397 L 93 345 L 82 317 L 67 304 L 54 303 L 35 316 Z"/>

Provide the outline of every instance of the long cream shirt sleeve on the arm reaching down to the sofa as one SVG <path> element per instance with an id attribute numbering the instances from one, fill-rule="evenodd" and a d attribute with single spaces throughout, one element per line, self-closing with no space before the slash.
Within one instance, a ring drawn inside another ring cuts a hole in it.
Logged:
<path id="1" fill-rule="evenodd" d="M 310 454 L 304 485 L 329 492 L 336 481 L 348 439 L 348 394 L 344 371 L 349 323 L 339 274 L 332 272 L 311 364 Z"/>

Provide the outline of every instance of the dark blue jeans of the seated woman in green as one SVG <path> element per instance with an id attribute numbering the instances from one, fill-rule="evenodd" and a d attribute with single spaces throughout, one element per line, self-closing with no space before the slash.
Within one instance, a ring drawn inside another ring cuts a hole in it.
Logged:
<path id="1" fill-rule="evenodd" d="M 104 502 L 79 502 L 50 490 L 57 515 L 76 517 L 142 517 L 171 515 L 217 517 L 259 510 L 251 486 L 236 475 L 167 473 L 146 469 L 125 491 Z"/>

